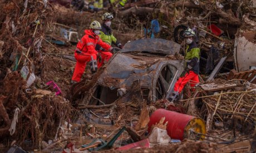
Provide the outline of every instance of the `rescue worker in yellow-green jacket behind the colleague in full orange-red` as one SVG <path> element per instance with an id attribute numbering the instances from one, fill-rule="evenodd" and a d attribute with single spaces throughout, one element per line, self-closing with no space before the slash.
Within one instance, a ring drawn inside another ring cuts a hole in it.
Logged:
<path id="1" fill-rule="evenodd" d="M 110 28 L 111 20 L 114 19 L 113 15 L 106 12 L 102 15 L 102 29 L 100 31 L 99 37 L 103 42 L 111 45 L 114 44 L 116 47 L 122 49 L 122 44 L 117 41 L 117 39 L 112 34 L 112 29 Z M 104 63 L 108 62 L 112 57 L 112 53 L 105 52 L 105 50 L 100 46 L 96 45 L 96 50 L 99 50 L 102 60 L 98 60 L 98 68 L 100 68 Z"/>

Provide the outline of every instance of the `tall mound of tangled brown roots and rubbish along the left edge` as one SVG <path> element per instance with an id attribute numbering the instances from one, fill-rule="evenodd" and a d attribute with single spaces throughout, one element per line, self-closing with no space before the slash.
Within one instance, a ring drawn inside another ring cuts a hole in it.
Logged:
<path id="1" fill-rule="evenodd" d="M 45 60 L 51 58 L 48 53 L 53 50 L 45 33 L 54 13 L 47 1 L 2 1 L 0 7 L 1 143 L 10 145 L 16 140 L 19 145 L 37 147 L 42 141 L 58 138 L 60 126 L 72 112 L 68 101 L 59 96 L 59 81 L 54 80 L 63 76 L 58 67 L 65 62 L 51 60 L 59 63 L 54 73 L 62 74 L 48 75 L 52 69 Z"/>

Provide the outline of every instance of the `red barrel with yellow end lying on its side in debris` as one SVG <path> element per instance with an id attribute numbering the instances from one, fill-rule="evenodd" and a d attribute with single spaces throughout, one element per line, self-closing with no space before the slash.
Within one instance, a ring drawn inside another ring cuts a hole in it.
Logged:
<path id="1" fill-rule="evenodd" d="M 193 129 L 195 132 L 205 134 L 205 124 L 202 119 L 165 109 L 157 109 L 154 111 L 150 116 L 148 130 L 151 131 L 151 126 L 159 123 L 161 118 L 164 117 L 164 123 L 168 121 L 166 130 L 171 139 L 183 140 L 185 138 L 189 138 L 190 129 Z M 204 136 L 201 135 L 201 137 L 198 137 L 198 140 L 202 140 L 203 138 Z"/>

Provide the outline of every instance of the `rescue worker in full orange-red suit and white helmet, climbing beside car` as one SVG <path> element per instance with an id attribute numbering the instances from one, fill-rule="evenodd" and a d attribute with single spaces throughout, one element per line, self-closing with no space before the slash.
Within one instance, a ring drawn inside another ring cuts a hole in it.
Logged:
<path id="1" fill-rule="evenodd" d="M 77 43 L 75 50 L 76 66 L 73 72 L 71 84 L 80 81 L 82 74 L 85 71 L 87 62 L 91 62 L 91 60 L 93 60 L 97 66 L 96 60 L 97 58 L 101 59 L 101 56 L 95 50 L 96 44 L 99 44 L 105 50 L 113 49 L 109 44 L 102 42 L 102 40 L 99 38 L 100 30 L 100 23 L 93 21 L 90 25 L 90 29 L 85 30 L 85 35 L 83 35 L 82 39 Z M 92 62 L 91 64 L 93 64 Z"/>

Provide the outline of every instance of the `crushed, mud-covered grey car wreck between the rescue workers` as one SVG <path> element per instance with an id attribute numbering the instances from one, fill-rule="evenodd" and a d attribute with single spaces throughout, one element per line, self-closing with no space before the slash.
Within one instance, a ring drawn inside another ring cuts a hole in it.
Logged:
<path id="1" fill-rule="evenodd" d="M 135 95 L 147 103 L 166 98 L 183 72 L 179 50 L 180 44 L 164 39 L 126 43 L 91 80 L 72 86 L 71 102 L 80 108 L 103 108 L 116 101 L 125 103 Z"/>

